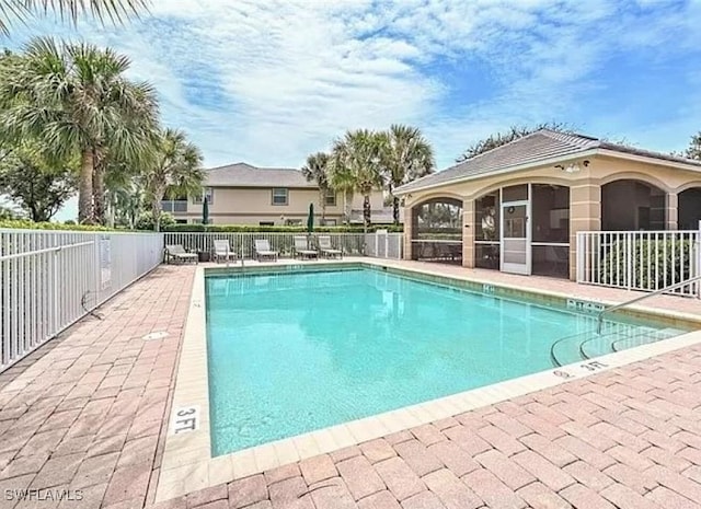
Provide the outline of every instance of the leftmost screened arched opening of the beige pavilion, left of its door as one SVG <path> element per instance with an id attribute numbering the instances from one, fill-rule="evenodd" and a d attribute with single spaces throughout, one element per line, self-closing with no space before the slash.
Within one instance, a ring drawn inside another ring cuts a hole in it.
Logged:
<path id="1" fill-rule="evenodd" d="M 462 264 L 462 201 L 437 197 L 412 208 L 412 259 Z"/>

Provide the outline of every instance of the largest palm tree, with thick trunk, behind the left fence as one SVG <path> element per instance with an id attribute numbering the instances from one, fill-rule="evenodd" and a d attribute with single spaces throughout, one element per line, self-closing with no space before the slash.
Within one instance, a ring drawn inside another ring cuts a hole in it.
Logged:
<path id="1" fill-rule="evenodd" d="M 0 137 L 35 137 L 61 159 L 78 154 L 78 218 L 104 222 L 104 158 L 139 165 L 149 159 L 158 127 L 153 88 L 124 77 L 127 57 L 89 44 L 37 38 L 5 60 Z"/>

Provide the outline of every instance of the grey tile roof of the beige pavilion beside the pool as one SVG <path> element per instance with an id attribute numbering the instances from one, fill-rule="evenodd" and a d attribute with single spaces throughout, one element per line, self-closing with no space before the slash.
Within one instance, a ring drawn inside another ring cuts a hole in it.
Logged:
<path id="1" fill-rule="evenodd" d="M 589 150 L 610 150 L 614 152 L 630 153 L 645 158 L 660 159 L 692 164 L 701 170 L 701 161 L 694 161 L 677 155 L 652 152 L 634 147 L 611 143 L 590 136 L 556 132 L 549 129 L 540 129 L 528 136 L 519 138 L 510 143 L 503 144 L 487 152 L 468 159 L 455 166 L 427 175 L 397 188 L 397 193 L 403 194 L 425 187 L 433 187 L 451 181 L 460 181 L 509 167 L 521 166 L 529 163 L 538 163 L 549 159 L 565 158 Z"/>

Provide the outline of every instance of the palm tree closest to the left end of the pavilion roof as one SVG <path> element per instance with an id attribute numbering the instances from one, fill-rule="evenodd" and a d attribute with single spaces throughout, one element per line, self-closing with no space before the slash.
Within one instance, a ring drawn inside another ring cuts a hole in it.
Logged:
<path id="1" fill-rule="evenodd" d="M 434 151 L 417 128 L 394 124 L 387 132 L 382 166 L 388 190 L 392 196 L 394 224 L 399 224 L 400 204 L 393 192 L 402 184 L 433 173 L 436 166 Z"/>

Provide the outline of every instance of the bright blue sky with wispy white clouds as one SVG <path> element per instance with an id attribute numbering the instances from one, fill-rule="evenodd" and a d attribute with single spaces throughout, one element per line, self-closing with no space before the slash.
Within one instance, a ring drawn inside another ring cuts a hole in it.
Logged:
<path id="1" fill-rule="evenodd" d="M 347 129 L 401 123 L 440 170 L 544 122 L 683 150 L 701 130 L 699 26 L 701 0 L 152 0 L 118 26 L 14 23 L 4 45 L 50 35 L 126 54 L 206 166 L 299 167 Z"/>

